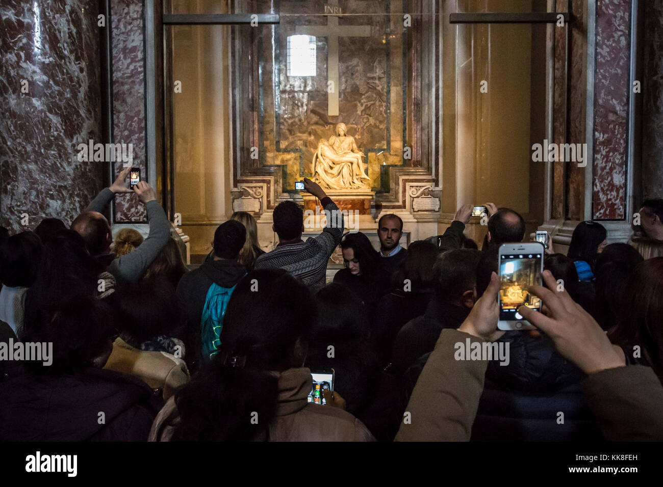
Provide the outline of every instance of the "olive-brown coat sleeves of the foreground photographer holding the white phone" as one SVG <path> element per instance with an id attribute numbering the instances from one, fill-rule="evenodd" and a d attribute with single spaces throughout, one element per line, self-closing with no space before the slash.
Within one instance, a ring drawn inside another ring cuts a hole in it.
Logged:
<path id="1" fill-rule="evenodd" d="M 455 343 L 483 340 L 444 329 L 414 386 L 396 441 L 469 441 L 487 360 L 455 360 Z M 663 440 L 663 387 L 641 365 L 609 368 L 587 376 L 583 393 L 609 441 Z M 507 440 L 508 438 L 505 438 Z"/>

